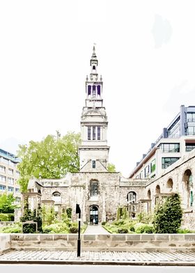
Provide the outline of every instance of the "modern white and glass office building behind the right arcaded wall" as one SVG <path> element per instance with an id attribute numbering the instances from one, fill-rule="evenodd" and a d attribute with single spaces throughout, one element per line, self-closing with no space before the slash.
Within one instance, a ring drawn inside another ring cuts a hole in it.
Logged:
<path id="1" fill-rule="evenodd" d="M 178 159 L 195 148 L 195 106 L 181 105 L 180 112 L 163 129 L 148 153 L 130 173 L 130 178 L 155 178 Z"/>

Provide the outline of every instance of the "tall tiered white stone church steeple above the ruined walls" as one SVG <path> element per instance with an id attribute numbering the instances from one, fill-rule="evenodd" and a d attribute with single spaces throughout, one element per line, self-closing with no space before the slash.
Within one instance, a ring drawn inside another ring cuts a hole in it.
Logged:
<path id="1" fill-rule="evenodd" d="M 86 100 L 81 114 L 80 172 L 105 172 L 109 158 L 107 114 L 103 107 L 102 76 L 98 76 L 98 59 L 93 46 L 91 74 L 86 77 Z"/>

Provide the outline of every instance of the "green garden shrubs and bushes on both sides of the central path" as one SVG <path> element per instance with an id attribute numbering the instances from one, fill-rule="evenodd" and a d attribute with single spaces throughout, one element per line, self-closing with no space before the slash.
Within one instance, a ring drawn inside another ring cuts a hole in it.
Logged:
<path id="1" fill-rule="evenodd" d="M 11 198 L 3 196 L 4 207 L 0 205 L 0 212 L 13 210 Z M 173 194 L 158 204 L 153 214 L 139 213 L 136 219 L 130 219 L 127 208 L 118 208 L 114 221 L 102 222 L 102 226 L 109 233 L 195 233 L 181 228 L 182 208 L 180 196 Z M 5 205 L 6 204 L 6 205 Z M 3 219 L 8 215 L 3 214 Z M 1 216 L 1 215 L 0 215 Z M 7 217 L 7 218 L 6 218 Z M 61 214 L 54 212 L 54 207 L 42 205 L 33 212 L 29 204 L 24 205 L 24 216 L 20 222 L 10 223 L 0 228 L 0 233 L 78 233 L 78 222 L 72 221 L 72 209 L 66 208 Z M 86 230 L 86 224 L 81 226 L 81 233 Z M 36 230 L 37 228 L 37 230 Z"/>

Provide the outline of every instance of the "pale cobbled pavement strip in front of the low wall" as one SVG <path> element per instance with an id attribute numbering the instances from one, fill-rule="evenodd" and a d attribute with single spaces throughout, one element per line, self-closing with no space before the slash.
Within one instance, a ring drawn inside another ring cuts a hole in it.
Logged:
<path id="1" fill-rule="evenodd" d="M 0 263 L 63 263 L 117 265 L 193 265 L 195 252 L 117 252 L 117 251 L 9 251 Z"/>

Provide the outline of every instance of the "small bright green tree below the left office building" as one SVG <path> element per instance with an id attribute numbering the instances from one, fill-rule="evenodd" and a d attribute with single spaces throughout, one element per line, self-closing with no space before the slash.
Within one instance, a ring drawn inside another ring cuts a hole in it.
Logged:
<path id="1" fill-rule="evenodd" d="M 0 196 L 0 212 L 13 213 L 16 205 L 14 205 L 15 198 L 13 194 L 2 194 Z"/>

